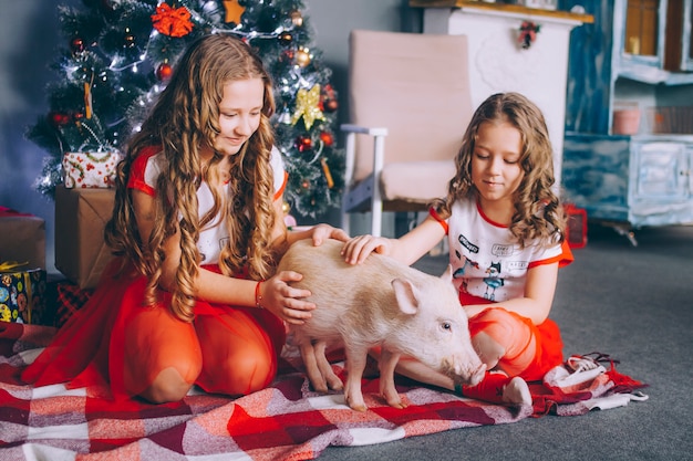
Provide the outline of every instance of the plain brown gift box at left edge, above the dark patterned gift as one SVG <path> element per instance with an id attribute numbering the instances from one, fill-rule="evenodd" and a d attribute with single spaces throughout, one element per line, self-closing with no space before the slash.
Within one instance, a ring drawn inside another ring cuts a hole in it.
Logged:
<path id="1" fill-rule="evenodd" d="M 17 261 L 24 268 L 45 269 L 45 221 L 0 207 L 0 262 Z"/>

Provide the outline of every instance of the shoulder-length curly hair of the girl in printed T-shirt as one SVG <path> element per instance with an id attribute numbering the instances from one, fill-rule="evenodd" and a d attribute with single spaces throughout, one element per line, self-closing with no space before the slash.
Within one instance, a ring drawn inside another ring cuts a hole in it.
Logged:
<path id="1" fill-rule="evenodd" d="M 433 202 L 441 218 L 451 214 L 453 203 L 463 198 L 477 199 L 472 182 L 472 157 L 479 126 L 505 122 L 521 136 L 520 168 L 523 180 L 515 192 L 515 212 L 510 233 L 524 247 L 532 240 L 550 245 L 565 240 L 566 217 L 558 196 L 551 190 L 554 158 L 548 128 L 541 111 L 519 93 L 497 93 L 475 111 L 455 157 L 456 174 L 447 187 L 447 196 Z"/>

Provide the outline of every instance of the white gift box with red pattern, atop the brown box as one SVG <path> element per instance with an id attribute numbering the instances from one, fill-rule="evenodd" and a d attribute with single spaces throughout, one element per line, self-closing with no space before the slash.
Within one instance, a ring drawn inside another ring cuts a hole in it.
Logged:
<path id="1" fill-rule="evenodd" d="M 63 184 L 65 188 L 111 188 L 115 184 L 115 168 L 122 159 L 117 151 L 65 153 Z"/>

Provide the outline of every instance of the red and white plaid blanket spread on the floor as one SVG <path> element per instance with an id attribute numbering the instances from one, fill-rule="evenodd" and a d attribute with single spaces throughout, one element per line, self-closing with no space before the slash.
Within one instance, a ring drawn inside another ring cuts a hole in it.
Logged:
<path id="1" fill-rule="evenodd" d="M 644 385 L 617 373 L 613 362 L 610 370 L 577 374 L 568 360 L 544 383 L 530 384 L 534 407 L 470 400 L 399 378 L 397 390 L 410 406 L 394 409 L 377 397 L 375 377 L 364 379 L 369 410 L 358 412 L 339 392 L 311 391 L 300 356 L 287 347 L 277 379 L 247 397 L 194 390 L 176 404 L 115 405 L 84 389 L 33 388 L 19 381 L 22 367 L 53 334 L 52 327 L 0 323 L 0 459 L 309 460 L 328 446 L 382 443 L 545 415 L 583 415 L 647 398 L 637 390 Z M 342 378 L 343 365 L 333 365 Z"/>

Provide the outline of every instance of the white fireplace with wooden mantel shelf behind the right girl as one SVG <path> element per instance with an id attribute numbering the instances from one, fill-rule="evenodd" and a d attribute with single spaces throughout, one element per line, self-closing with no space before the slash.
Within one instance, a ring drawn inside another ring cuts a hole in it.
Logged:
<path id="1" fill-rule="evenodd" d="M 451 7 L 441 6 L 445 3 Z M 478 1 L 411 4 L 425 7 L 424 33 L 467 36 L 475 107 L 494 93 L 509 91 L 523 93 L 539 106 L 554 147 L 556 184 L 560 185 L 570 31 L 591 22 L 591 17 Z M 525 21 L 540 27 L 528 49 L 518 40 Z"/>

